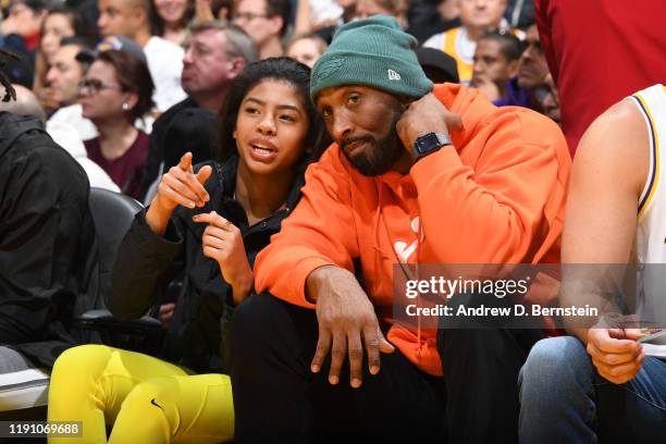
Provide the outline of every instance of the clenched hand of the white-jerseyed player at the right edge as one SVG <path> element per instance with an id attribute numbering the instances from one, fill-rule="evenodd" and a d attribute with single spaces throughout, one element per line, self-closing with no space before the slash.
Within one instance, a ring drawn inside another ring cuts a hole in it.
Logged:
<path id="1" fill-rule="evenodd" d="M 590 329 L 588 353 L 599 374 L 614 384 L 631 381 L 645 359 L 640 336 L 636 329 Z"/>

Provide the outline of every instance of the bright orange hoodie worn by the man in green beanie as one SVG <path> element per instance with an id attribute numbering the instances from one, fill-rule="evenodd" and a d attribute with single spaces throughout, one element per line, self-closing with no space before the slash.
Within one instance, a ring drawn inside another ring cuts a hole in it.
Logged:
<path id="1" fill-rule="evenodd" d="M 306 172 L 303 198 L 257 257 L 255 278 L 257 291 L 314 308 L 305 298 L 308 274 L 326 264 L 354 272 L 360 258 L 378 317 L 393 325 L 387 340 L 442 375 L 436 332 L 393 324 L 393 266 L 557 262 L 571 160 L 543 115 L 496 108 L 461 85 L 436 85 L 434 95 L 462 118 L 465 128 L 451 134 L 455 149 L 407 175 L 366 177 L 331 146 Z"/>

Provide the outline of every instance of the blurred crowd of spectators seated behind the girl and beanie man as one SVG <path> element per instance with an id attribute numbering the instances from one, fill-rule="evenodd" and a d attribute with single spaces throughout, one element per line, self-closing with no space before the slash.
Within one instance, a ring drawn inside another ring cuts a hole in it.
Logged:
<path id="1" fill-rule="evenodd" d="M 342 24 L 395 16 L 434 83 L 559 122 L 532 0 L 3 0 L 0 47 L 22 112 L 86 169 L 91 186 L 149 203 L 186 151 L 215 149 L 217 114 L 246 64 L 309 66 Z M 110 49 L 119 51 L 107 51 Z"/>

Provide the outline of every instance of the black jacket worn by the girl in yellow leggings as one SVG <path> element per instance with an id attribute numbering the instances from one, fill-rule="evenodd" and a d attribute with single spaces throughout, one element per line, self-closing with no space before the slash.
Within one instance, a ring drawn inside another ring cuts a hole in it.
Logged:
<path id="1" fill-rule="evenodd" d="M 206 183 L 210 200 L 206 207 L 194 210 L 176 207 L 163 237 L 148 226 L 145 211 L 136 215 L 120 247 L 111 278 L 112 291 L 107 297 L 107 306 L 114 316 L 135 319 L 160 303 L 169 282 L 181 276 L 183 287 L 160 357 L 198 373 L 227 372 L 220 350 L 221 322 L 231 317 L 233 298 L 231 285 L 224 282 L 218 262 L 201 251 L 206 224 L 194 223 L 192 217 L 214 210 L 238 226 L 254 267 L 257 254 L 280 231 L 282 220 L 300 198 L 304 183 L 303 176 L 295 181 L 286 209 L 248 226 L 245 210 L 233 199 L 237 162 L 233 158 L 224 165 L 199 164 L 199 168 L 213 166 Z"/>

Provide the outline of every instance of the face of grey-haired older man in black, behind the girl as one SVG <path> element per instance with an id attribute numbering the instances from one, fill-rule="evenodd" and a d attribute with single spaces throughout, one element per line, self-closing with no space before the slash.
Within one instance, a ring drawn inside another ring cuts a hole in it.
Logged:
<path id="1" fill-rule="evenodd" d="M 226 45 L 220 29 L 201 30 L 185 42 L 181 84 L 187 94 L 213 94 L 235 77 Z"/>

